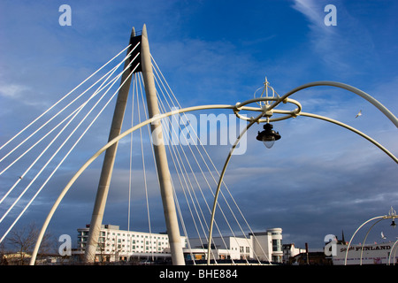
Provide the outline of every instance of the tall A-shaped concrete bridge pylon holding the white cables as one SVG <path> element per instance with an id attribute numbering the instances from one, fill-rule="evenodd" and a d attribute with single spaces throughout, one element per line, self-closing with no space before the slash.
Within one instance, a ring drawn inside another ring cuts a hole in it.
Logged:
<path id="1" fill-rule="evenodd" d="M 134 47 L 139 44 L 139 48 Z M 141 48 L 140 48 L 141 47 Z M 133 50 L 133 52 L 132 52 Z M 140 50 L 137 53 L 136 50 Z M 135 53 L 134 53 L 135 52 Z M 127 55 L 130 57 L 126 59 L 125 69 L 132 68 L 129 65 L 134 65 L 136 61 L 140 66 L 135 69 L 135 72 L 142 72 L 144 80 L 145 94 L 147 97 L 149 119 L 159 115 L 160 111 L 157 102 L 157 90 L 155 87 L 155 80 L 152 71 L 152 63 L 149 52 L 149 41 L 147 28 L 144 25 L 142 28 L 142 34 L 136 35 L 133 27 L 132 34 L 130 36 L 130 48 L 127 50 Z M 138 56 L 134 56 L 138 54 Z M 133 61 L 134 60 L 134 61 Z M 111 131 L 109 134 L 109 141 L 114 139 L 120 134 L 123 119 L 126 111 L 126 102 L 128 92 L 131 85 L 132 72 L 125 72 L 120 80 L 120 84 L 123 84 L 119 89 L 117 103 L 115 111 L 113 113 L 113 119 L 111 123 Z M 152 142 L 157 164 L 157 175 L 160 184 L 160 193 L 162 196 L 162 202 L 165 212 L 165 224 L 167 234 L 169 238 L 171 253 L 172 253 L 172 264 L 173 265 L 184 265 L 184 256 L 182 252 L 181 240 L 180 240 L 180 228 L 177 218 L 177 212 L 175 209 L 174 197 L 172 194 L 172 179 L 167 163 L 167 156 L 165 151 L 165 142 L 163 141 L 162 125 L 159 120 L 157 123 L 151 124 L 152 130 Z M 98 245 L 99 233 L 103 222 L 103 212 L 105 210 L 106 199 L 108 196 L 111 174 L 113 165 L 115 163 L 116 151 L 118 149 L 118 142 L 112 145 L 105 151 L 105 157 L 103 159 L 103 168 L 98 184 L 96 193 L 96 203 L 90 222 L 88 242 L 86 245 L 85 261 L 86 263 L 94 263 L 96 256 L 96 249 Z"/>

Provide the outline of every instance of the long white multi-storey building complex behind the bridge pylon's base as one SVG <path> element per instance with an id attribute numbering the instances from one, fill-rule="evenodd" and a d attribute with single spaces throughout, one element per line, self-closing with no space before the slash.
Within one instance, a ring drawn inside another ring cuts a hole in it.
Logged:
<path id="1" fill-rule="evenodd" d="M 74 256 L 84 255 L 88 241 L 89 225 L 78 229 L 78 249 Z M 186 260 L 207 260 L 208 245 L 203 239 L 181 236 Z M 216 249 L 214 249 L 216 248 Z M 249 233 L 242 237 L 214 237 L 211 258 L 216 260 L 243 260 L 282 262 L 282 229 Z M 103 225 L 100 231 L 96 262 L 131 260 L 171 260 L 166 233 L 143 233 L 120 230 L 119 226 Z"/>

